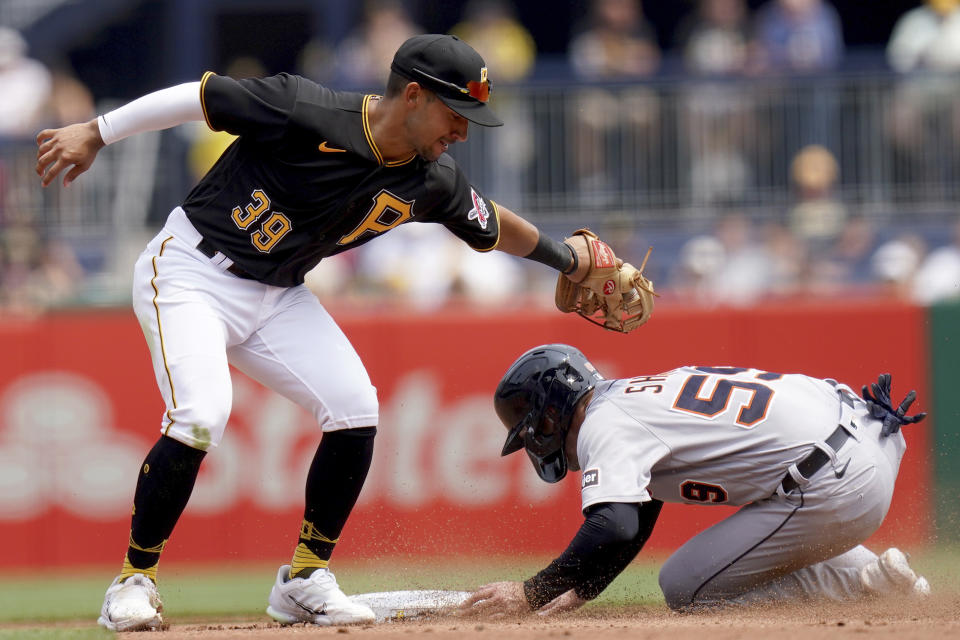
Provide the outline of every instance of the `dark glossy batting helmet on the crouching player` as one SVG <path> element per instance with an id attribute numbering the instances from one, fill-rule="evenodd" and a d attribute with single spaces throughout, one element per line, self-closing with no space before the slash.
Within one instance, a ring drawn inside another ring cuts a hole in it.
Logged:
<path id="1" fill-rule="evenodd" d="M 509 433 L 501 456 L 526 448 L 547 482 L 567 474 L 564 440 L 573 412 L 603 376 L 578 349 L 545 344 L 510 365 L 497 385 L 493 406 Z"/>

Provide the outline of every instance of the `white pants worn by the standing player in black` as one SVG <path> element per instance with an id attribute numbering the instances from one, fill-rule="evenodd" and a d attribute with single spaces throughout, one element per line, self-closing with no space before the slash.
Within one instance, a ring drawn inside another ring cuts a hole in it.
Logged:
<path id="1" fill-rule="evenodd" d="M 303 285 L 284 288 L 226 271 L 195 247 L 177 207 L 137 260 L 133 308 L 166 410 L 162 433 L 206 450 L 223 437 L 230 367 L 310 412 L 323 431 L 376 426 L 376 389 L 350 341 Z"/>

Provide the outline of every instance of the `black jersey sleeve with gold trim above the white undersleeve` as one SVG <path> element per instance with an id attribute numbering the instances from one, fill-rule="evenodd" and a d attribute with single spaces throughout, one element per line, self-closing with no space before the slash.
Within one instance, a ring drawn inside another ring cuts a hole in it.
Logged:
<path id="1" fill-rule="evenodd" d="M 203 117 L 214 131 L 277 141 L 286 132 L 298 88 L 299 79 L 286 73 L 234 80 L 207 72 L 200 81 Z"/>

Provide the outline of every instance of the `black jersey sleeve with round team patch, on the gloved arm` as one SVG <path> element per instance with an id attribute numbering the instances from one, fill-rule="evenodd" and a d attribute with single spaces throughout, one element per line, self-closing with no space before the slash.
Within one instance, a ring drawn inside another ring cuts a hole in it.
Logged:
<path id="1" fill-rule="evenodd" d="M 500 242 L 500 213 L 467 181 L 449 156 L 442 156 L 428 184 L 436 201 L 427 222 L 439 222 L 476 251 L 490 251 Z"/>

